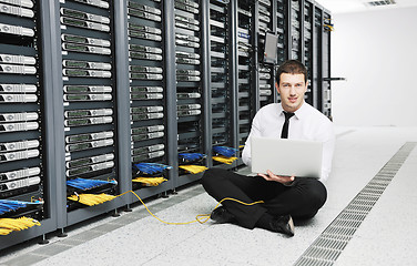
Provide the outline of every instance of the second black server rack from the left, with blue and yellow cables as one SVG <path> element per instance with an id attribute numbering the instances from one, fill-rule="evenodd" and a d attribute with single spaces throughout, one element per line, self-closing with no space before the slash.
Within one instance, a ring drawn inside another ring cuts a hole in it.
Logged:
<path id="1" fill-rule="evenodd" d="M 109 212 L 121 198 L 99 207 L 87 207 L 69 197 L 77 194 L 118 195 L 122 182 L 119 173 L 118 104 L 112 1 L 61 0 L 54 2 L 54 23 L 59 40 L 54 74 L 57 145 L 62 144 L 57 171 L 62 194 L 62 217 L 58 228 Z M 60 73 L 60 74 L 58 74 Z M 62 139 L 60 139 L 62 137 Z M 104 185 L 75 188 L 68 182 L 104 181 Z M 75 197 L 77 198 L 77 197 Z"/>

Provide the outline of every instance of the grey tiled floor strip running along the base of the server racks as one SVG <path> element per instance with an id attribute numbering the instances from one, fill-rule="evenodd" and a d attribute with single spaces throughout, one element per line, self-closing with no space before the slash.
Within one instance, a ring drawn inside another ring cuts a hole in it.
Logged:
<path id="1" fill-rule="evenodd" d="M 196 191 L 196 190 L 200 190 L 200 187 L 197 186 L 197 187 L 195 187 L 195 188 L 193 188 L 193 190 L 191 190 L 191 191 Z M 195 196 L 199 196 L 199 195 L 201 195 L 201 194 L 203 194 L 204 193 L 204 191 L 203 192 L 201 192 L 201 193 L 199 193 L 199 194 L 196 194 L 196 195 L 193 195 L 193 196 L 186 196 L 185 198 L 183 198 L 183 200 L 181 200 L 180 202 L 175 202 L 175 203 L 173 203 L 173 204 L 171 204 L 170 206 L 167 206 L 166 208 L 170 208 L 170 207 L 172 207 L 172 206 L 175 206 L 175 205 L 177 205 L 177 204 L 180 204 L 180 203 L 183 203 L 183 202 L 185 202 L 185 201 L 189 201 L 189 200 L 191 200 L 191 198 L 193 198 L 193 197 L 195 197 Z M 161 203 L 156 203 L 155 205 L 157 206 L 157 205 L 161 205 L 161 204 L 166 204 L 166 201 L 163 201 L 163 202 L 161 202 Z M 140 206 L 143 206 L 143 205 L 140 205 Z M 154 205 L 153 205 L 154 206 Z M 139 207 L 139 206 L 138 206 Z M 166 209 L 165 208 L 165 209 Z M 156 213 L 159 213 L 159 212 L 162 212 L 162 211 L 165 211 L 165 209 L 160 209 L 160 211 L 156 211 L 156 212 L 152 212 L 152 213 L 154 213 L 154 214 L 156 214 Z M 148 211 L 146 211 L 146 208 L 143 208 L 143 209 L 140 209 L 139 211 L 140 213 L 148 213 Z M 133 213 L 132 213 L 133 214 Z M 131 213 L 126 213 L 126 214 L 124 214 L 123 216 L 133 216 Z M 138 214 L 138 212 L 135 212 L 135 214 Z M 123 217 L 122 216 L 122 217 Z M 118 217 L 118 218 L 122 218 L 122 217 Z M 143 216 L 143 217 L 140 217 L 140 218 L 138 218 L 136 221 L 140 221 L 140 219 L 143 219 L 143 218 L 146 218 L 146 217 L 149 217 L 149 215 L 146 215 L 146 216 Z M 98 237 L 101 237 L 101 236 L 103 236 L 103 235 L 105 235 L 105 234 L 108 234 L 108 233 L 111 233 L 111 232 L 113 232 L 113 231 L 116 231 L 116 229 L 120 229 L 120 228 L 122 228 L 122 227 L 124 227 L 124 226 L 126 226 L 126 225 L 129 225 L 129 224 L 120 224 L 121 226 L 118 226 L 118 227 L 115 227 L 115 228 L 112 228 L 112 229 L 110 229 L 110 231 L 108 231 L 108 232 L 103 232 L 103 231 L 101 231 L 101 229 L 96 229 L 98 227 L 100 227 L 100 226 L 102 226 L 102 225 L 106 225 L 106 224 L 116 224 L 116 223 L 114 223 L 115 221 L 114 219 L 111 219 L 111 221 L 109 221 L 108 223 L 103 223 L 103 224 L 100 224 L 100 225 L 98 225 L 98 226 L 95 226 L 95 227 L 92 227 L 92 228 L 90 228 L 89 229 L 89 232 L 90 231 L 94 231 L 94 232 L 96 232 L 96 233 L 100 233 L 99 235 L 94 235 L 94 236 L 92 236 L 92 238 L 90 238 L 90 239 L 88 239 L 88 241 L 82 241 L 82 239 L 80 239 L 80 238 L 78 238 L 80 235 L 82 235 L 82 234 L 84 234 L 85 232 L 80 232 L 80 233 L 78 233 L 78 234 L 75 234 L 75 235 L 72 235 L 72 236 L 67 236 L 64 239 L 70 239 L 70 241 L 75 241 L 75 242 L 80 242 L 79 244 L 77 244 L 77 245 L 71 245 L 71 246 L 69 246 L 70 248 L 68 248 L 67 250 L 69 250 L 69 249 L 71 249 L 71 248 L 73 248 L 73 247 L 77 247 L 77 246 L 79 246 L 79 245 L 82 245 L 82 244 L 84 244 L 84 243 L 87 243 L 87 242 L 89 242 L 89 241 L 92 241 L 92 239 L 95 239 L 95 238 L 98 238 Z M 103 233 L 103 234 L 101 234 L 101 233 Z M 30 252 L 30 254 L 35 254 L 35 252 L 40 252 L 41 249 L 45 249 L 45 248 L 50 248 L 50 247 L 52 247 L 52 246 L 54 246 L 54 245 L 60 245 L 60 239 L 58 239 L 58 241 L 55 241 L 55 242 L 53 242 L 53 243 L 50 243 L 50 244 L 48 244 L 48 245 L 45 245 L 45 246 L 41 246 L 41 247 L 38 247 L 37 249 L 34 249 L 34 250 L 32 250 L 32 252 Z M 64 252 L 64 250 L 63 250 Z M 62 253 L 62 252 L 60 252 L 60 253 Z M 58 254 L 60 254 L 60 253 L 57 253 L 57 254 L 54 254 L 54 255 L 58 255 Z M 49 257 L 52 257 L 52 256 L 54 256 L 54 255 L 51 255 L 51 256 L 41 256 L 42 257 L 42 259 L 39 259 L 37 263 L 39 263 L 39 262 L 41 262 L 41 260 L 43 260 L 43 259 L 47 259 L 47 258 L 49 258 Z M 8 262 L 10 262 L 10 260 L 13 260 L 13 259 L 16 259 L 16 258 L 20 258 L 20 257 L 23 257 L 24 255 L 20 255 L 20 256 L 17 256 L 17 257 L 14 257 L 14 258 L 12 258 L 12 259 L 9 259 L 9 260 L 7 260 L 7 262 L 4 262 L 4 263 L 8 263 Z"/>

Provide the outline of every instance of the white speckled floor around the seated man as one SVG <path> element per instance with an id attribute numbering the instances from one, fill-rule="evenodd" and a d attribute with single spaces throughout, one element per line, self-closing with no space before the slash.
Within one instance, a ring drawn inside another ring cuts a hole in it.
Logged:
<path id="1" fill-rule="evenodd" d="M 297 224 L 292 238 L 228 224 L 164 225 L 142 206 L 52 237 L 45 246 L 13 249 L 0 265 L 293 265 L 417 127 L 338 127 L 328 201 L 312 221 Z M 394 176 L 336 260 L 336 265 L 411 265 L 417 259 L 417 147 Z M 170 222 L 186 222 L 216 205 L 201 185 L 151 202 Z"/>

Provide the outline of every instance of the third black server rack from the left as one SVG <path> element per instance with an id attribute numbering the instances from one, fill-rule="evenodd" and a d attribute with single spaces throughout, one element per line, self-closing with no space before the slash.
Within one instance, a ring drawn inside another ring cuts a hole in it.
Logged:
<path id="1" fill-rule="evenodd" d="M 174 89 L 170 81 L 169 33 L 166 29 L 171 7 L 163 1 L 129 0 L 129 79 L 131 117 L 131 163 L 169 165 L 169 93 Z M 172 127 L 172 126 L 171 126 Z M 145 173 L 146 174 L 146 173 Z M 133 191 L 142 197 L 172 188 L 173 178 L 165 172 L 156 175 L 166 182 L 154 187 L 138 182 Z M 132 171 L 132 178 L 142 177 Z M 138 201 L 138 198 L 134 198 Z"/>

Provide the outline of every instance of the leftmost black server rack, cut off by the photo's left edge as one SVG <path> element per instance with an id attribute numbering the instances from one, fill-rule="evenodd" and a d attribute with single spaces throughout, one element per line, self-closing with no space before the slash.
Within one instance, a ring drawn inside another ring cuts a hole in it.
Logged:
<path id="1" fill-rule="evenodd" d="M 41 1 L 0 1 L 0 200 L 38 202 L 0 218 L 41 224 L 1 236 L 0 248 L 57 228 L 47 17 Z"/>

